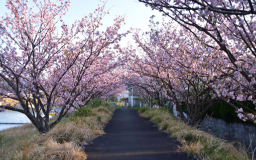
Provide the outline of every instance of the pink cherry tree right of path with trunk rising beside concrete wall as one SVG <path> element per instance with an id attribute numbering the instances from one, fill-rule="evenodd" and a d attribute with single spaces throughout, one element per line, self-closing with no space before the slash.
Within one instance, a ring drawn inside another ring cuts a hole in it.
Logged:
<path id="1" fill-rule="evenodd" d="M 176 103 L 181 116 L 184 116 L 184 110 L 180 103 L 185 102 L 189 119 L 182 118 L 195 124 L 215 99 L 221 99 L 219 94 L 223 92 L 218 91 L 217 86 L 233 82 L 223 74 L 228 71 L 229 65 L 222 60 L 228 60 L 228 57 L 202 45 L 192 33 L 174 28 L 172 22 L 164 22 L 163 27 L 152 28 L 151 32 L 140 35 L 137 31 L 134 37 L 144 56 L 134 55 L 134 64 L 131 66 L 141 76 L 161 79 L 166 96 Z M 242 114 L 247 115 L 245 112 Z"/>

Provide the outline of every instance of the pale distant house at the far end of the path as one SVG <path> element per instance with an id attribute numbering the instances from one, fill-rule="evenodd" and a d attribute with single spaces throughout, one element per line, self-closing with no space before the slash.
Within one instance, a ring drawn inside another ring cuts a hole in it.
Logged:
<path id="1" fill-rule="evenodd" d="M 126 90 L 129 91 L 129 99 L 128 99 L 128 103 L 129 103 L 129 107 L 141 107 L 143 106 L 143 103 L 140 99 L 140 96 L 137 95 L 134 92 L 134 85 L 132 84 L 128 84 Z"/>

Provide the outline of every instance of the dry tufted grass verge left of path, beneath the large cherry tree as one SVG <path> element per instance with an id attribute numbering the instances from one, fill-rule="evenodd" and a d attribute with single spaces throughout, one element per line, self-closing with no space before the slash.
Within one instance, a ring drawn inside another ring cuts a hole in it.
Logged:
<path id="1" fill-rule="evenodd" d="M 40 134 L 32 124 L 0 131 L 0 159 L 86 159 L 82 144 L 104 134 L 113 106 L 81 109 Z"/>

